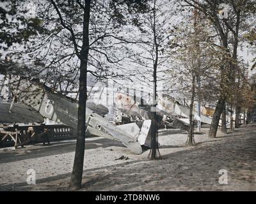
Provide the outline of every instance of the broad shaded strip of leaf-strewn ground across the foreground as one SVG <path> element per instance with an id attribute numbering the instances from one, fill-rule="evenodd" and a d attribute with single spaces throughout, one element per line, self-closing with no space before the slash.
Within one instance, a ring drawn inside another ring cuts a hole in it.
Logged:
<path id="1" fill-rule="evenodd" d="M 256 126 L 252 128 L 239 129 L 234 134 L 219 137 L 220 140 L 200 143 L 197 147 L 165 154 L 162 156 L 163 159 L 128 161 L 86 170 L 81 190 L 256 191 Z M 228 171 L 227 186 L 218 183 L 221 169 Z M 60 191 L 67 189 L 69 177 L 70 173 L 65 173 L 40 179 L 36 188 L 20 183 L 15 184 L 14 188 L 13 185 L 5 185 L 0 186 L 0 189 Z"/>

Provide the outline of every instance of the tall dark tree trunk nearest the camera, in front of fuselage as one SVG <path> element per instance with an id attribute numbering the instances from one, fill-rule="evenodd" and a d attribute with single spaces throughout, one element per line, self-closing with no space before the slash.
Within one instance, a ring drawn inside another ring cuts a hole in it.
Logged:
<path id="1" fill-rule="evenodd" d="M 79 106 L 77 113 L 77 140 L 76 154 L 73 171 L 70 179 L 70 190 L 81 188 L 84 164 L 84 142 L 85 142 L 85 115 L 87 99 L 87 62 L 89 52 L 89 21 L 90 21 L 90 0 L 84 0 L 84 22 L 83 22 L 83 45 L 81 48 L 80 77 L 79 77 Z"/>

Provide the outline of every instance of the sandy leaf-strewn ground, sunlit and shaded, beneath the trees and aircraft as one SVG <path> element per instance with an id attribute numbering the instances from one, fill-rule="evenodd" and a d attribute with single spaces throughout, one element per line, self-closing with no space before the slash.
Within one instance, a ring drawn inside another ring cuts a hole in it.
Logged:
<path id="1" fill-rule="evenodd" d="M 256 124 L 210 139 L 209 129 L 195 135 L 160 131 L 161 159 L 147 159 L 149 150 L 132 154 L 122 143 L 86 139 L 82 191 L 256 191 Z M 0 149 L 1 191 L 66 191 L 74 160 L 74 140 L 49 146 Z M 118 159 L 124 156 L 126 159 Z M 128 158 L 127 158 L 128 157 Z M 36 172 L 28 185 L 27 170 Z M 219 170 L 228 172 L 221 185 Z"/>

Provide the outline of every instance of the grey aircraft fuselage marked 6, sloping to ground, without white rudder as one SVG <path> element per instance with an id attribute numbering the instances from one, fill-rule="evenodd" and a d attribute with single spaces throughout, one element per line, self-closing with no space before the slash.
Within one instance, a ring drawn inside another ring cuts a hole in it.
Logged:
<path id="1" fill-rule="evenodd" d="M 40 84 L 40 82 L 21 80 L 19 83 L 18 89 L 16 87 L 17 84 L 13 83 L 12 92 L 19 98 L 21 103 L 31 106 L 45 118 L 69 126 L 73 129 L 74 135 L 76 135 L 78 103 L 75 99 L 52 92 L 49 87 Z M 132 138 L 120 127 L 111 124 L 98 114 L 102 113 L 102 109 L 105 110 L 104 106 L 97 108 L 97 105 L 94 106 L 92 103 L 88 103 L 88 106 L 93 109 L 86 107 L 86 132 L 88 134 L 115 138 L 132 152 L 141 154 L 141 145 L 135 138 Z"/>

